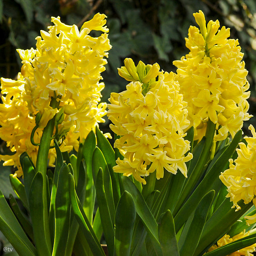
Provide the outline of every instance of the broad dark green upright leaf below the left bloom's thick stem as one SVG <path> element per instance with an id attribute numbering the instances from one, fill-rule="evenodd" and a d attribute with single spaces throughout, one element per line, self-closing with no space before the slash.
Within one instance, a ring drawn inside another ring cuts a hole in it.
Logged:
<path id="1" fill-rule="evenodd" d="M 45 199 L 42 196 L 44 184 L 43 179 L 43 174 L 41 172 L 37 172 L 30 188 L 29 209 L 38 256 L 51 256 L 52 245 L 50 230 L 46 222 L 48 219 L 48 210 L 45 205 Z"/>

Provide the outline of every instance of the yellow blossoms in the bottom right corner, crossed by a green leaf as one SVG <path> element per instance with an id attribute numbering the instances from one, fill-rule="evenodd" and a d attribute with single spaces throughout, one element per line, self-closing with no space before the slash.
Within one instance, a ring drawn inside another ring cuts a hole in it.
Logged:
<path id="1" fill-rule="evenodd" d="M 236 240 L 239 240 L 241 238 L 249 236 L 249 234 L 250 234 L 250 231 L 245 232 L 245 230 L 243 232 L 239 233 L 238 235 L 233 236 L 232 238 L 226 234 L 222 238 L 220 238 L 220 240 L 218 240 L 217 245 L 215 244 L 215 245 L 211 246 L 207 252 L 211 252 L 211 251 L 213 251 L 223 245 L 226 245 L 228 243 L 235 242 Z M 232 253 L 228 254 L 227 256 L 253 256 L 254 254 L 252 254 L 252 252 L 256 251 L 255 247 L 256 247 L 256 243 L 254 243 L 248 247 L 245 247 L 243 249 L 240 249 L 238 251 L 232 252 Z"/>

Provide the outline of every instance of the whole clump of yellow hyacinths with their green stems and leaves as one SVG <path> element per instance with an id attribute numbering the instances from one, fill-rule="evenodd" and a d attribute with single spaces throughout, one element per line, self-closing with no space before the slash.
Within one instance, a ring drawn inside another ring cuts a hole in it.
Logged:
<path id="1" fill-rule="evenodd" d="M 36 49 L 18 50 L 18 79 L 1 79 L 0 137 L 13 154 L 0 158 L 17 169 L 10 181 L 26 213 L 0 193 L 0 230 L 20 256 L 256 251 L 243 54 L 218 20 L 194 17 L 177 73 L 125 59 L 118 73 L 129 84 L 108 105 L 99 103 L 111 48 L 104 14 L 80 30 L 52 17 Z M 106 114 L 114 148 L 98 129 Z"/>

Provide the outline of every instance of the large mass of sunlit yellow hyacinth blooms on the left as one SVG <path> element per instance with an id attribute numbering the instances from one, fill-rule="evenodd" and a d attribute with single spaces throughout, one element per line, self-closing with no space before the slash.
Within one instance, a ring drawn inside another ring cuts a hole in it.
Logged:
<path id="1" fill-rule="evenodd" d="M 34 140 L 40 141 L 43 128 L 56 113 L 64 113 L 58 126 L 59 138 L 66 137 L 62 151 L 77 150 L 79 141 L 86 138 L 98 122 L 104 122 L 106 103 L 100 103 L 100 73 L 111 48 L 107 38 L 105 14 L 95 14 L 79 31 L 76 25 L 65 25 L 60 18 L 52 17 L 53 26 L 41 31 L 36 38 L 36 49 L 17 50 L 22 64 L 18 80 L 1 78 L 2 102 L 0 104 L 0 137 L 7 141 L 12 156 L 0 156 L 5 165 L 18 167 L 22 174 L 19 156 L 27 151 L 36 162 L 38 147 L 30 142 L 35 116 L 40 113 L 39 128 Z M 89 35 L 91 30 L 104 32 L 99 37 Z M 58 102 L 52 107 L 52 98 Z M 81 125 L 82 123 L 82 125 Z M 69 132 L 68 132 L 69 131 Z M 68 132 L 68 134 L 67 134 Z M 50 150 L 50 165 L 55 153 Z"/>

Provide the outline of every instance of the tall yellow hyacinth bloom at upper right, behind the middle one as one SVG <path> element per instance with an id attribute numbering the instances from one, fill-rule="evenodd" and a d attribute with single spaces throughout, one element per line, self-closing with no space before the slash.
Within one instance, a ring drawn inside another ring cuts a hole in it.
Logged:
<path id="1" fill-rule="evenodd" d="M 188 102 L 190 127 L 195 128 L 195 139 L 205 135 L 208 118 L 217 124 L 215 140 L 233 137 L 242 128 L 247 113 L 250 92 L 247 70 L 238 40 L 227 39 L 229 29 L 219 21 L 206 20 L 202 11 L 193 14 L 200 27 L 190 26 L 186 47 L 189 54 L 174 61 L 184 100 Z M 247 91 L 247 92 L 246 92 Z"/>

